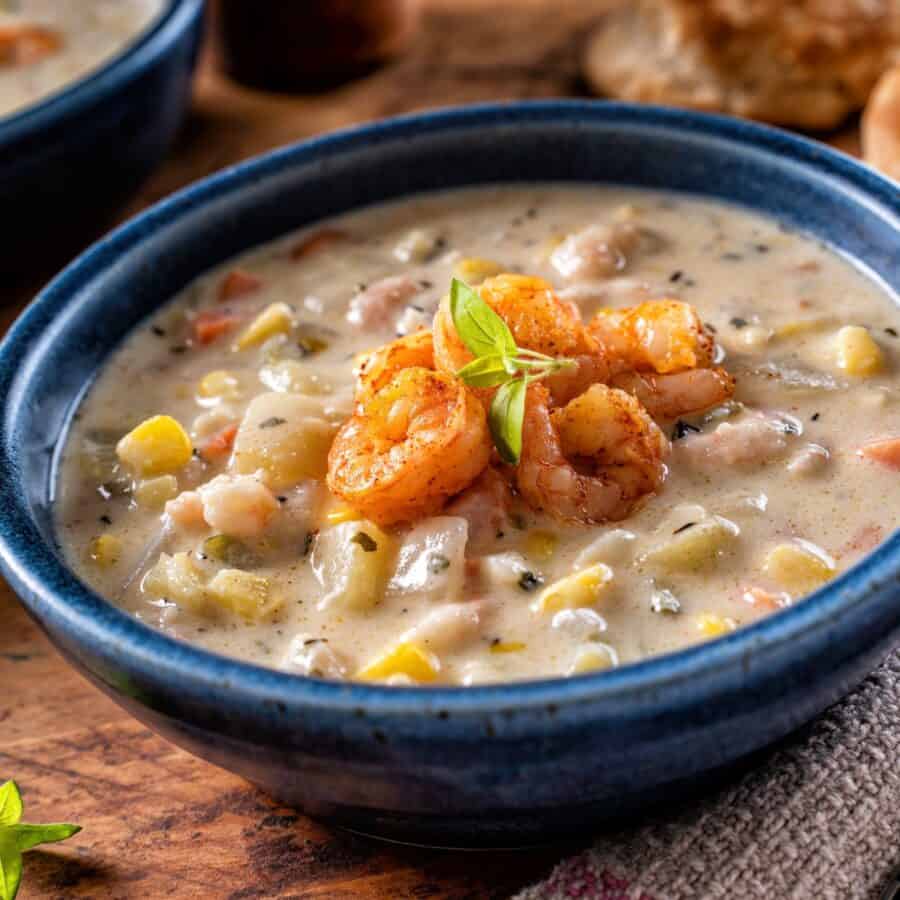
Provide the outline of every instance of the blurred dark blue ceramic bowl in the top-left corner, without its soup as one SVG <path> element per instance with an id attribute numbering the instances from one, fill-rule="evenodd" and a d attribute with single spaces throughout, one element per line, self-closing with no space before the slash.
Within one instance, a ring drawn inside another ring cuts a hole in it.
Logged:
<path id="1" fill-rule="evenodd" d="M 203 0 L 169 0 L 96 71 L 0 117 L 0 274 L 102 225 L 169 149 L 190 101 Z M 84 246 L 84 244 L 82 244 Z"/>

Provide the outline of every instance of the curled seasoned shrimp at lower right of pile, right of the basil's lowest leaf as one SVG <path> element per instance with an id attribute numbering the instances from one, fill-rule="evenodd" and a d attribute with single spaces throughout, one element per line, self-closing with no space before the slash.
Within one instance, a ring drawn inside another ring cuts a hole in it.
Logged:
<path id="1" fill-rule="evenodd" d="M 617 521 L 666 477 L 669 442 L 630 394 L 595 384 L 552 410 L 533 385 L 525 404 L 516 483 L 536 509 L 563 520 Z"/>

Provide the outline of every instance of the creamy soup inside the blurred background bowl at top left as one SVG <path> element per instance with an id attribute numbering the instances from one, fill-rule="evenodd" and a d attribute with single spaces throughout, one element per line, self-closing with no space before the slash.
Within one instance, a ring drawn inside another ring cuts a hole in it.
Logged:
<path id="1" fill-rule="evenodd" d="M 126 47 L 166 0 L 0 2 L 0 116 L 90 73 Z"/>

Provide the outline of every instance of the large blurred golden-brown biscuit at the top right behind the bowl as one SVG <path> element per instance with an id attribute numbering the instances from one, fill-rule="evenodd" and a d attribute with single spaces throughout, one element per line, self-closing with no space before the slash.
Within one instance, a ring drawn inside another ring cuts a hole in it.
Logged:
<path id="1" fill-rule="evenodd" d="M 618 99 L 825 129 L 898 59 L 897 0 L 636 0 L 602 20 L 584 71 Z"/>

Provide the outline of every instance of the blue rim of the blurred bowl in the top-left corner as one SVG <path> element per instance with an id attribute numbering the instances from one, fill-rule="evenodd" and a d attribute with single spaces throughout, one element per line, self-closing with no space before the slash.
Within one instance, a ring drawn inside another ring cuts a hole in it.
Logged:
<path id="1" fill-rule="evenodd" d="M 99 66 L 21 109 L 0 116 L 0 147 L 102 103 L 152 66 L 201 14 L 204 0 L 163 0 L 156 17 Z"/>

